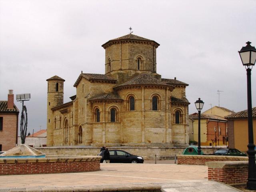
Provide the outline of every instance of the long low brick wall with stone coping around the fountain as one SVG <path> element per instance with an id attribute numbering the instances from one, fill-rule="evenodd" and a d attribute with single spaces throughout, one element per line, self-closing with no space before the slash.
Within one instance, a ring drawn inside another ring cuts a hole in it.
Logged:
<path id="1" fill-rule="evenodd" d="M 100 170 L 98 156 L 0 159 L 0 175 L 88 172 Z"/>

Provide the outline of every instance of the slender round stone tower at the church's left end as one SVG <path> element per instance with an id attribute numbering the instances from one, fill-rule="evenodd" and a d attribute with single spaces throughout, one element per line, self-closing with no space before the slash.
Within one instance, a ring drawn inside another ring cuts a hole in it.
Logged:
<path id="1" fill-rule="evenodd" d="M 53 146 L 54 116 L 51 108 L 63 104 L 64 79 L 53 76 L 46 80 L 47 88 L 47 146 Z"/>

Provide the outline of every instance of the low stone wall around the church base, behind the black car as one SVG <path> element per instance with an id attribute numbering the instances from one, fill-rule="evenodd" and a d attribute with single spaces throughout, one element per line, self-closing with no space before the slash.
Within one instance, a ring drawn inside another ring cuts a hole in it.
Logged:
<path id="1" fill-rule="evenodd" d="M 185 147 L 143 147 L 143 146 L 107 146 L 109 150 L 117 149 L 124 150 L 134 155 L 142 156 L 144 160 L 154 160 L 155 155 L 157 160 L 174 159 L 175 155 L 182 154 Z M 97 155 L 100 152 L 100 147 L 41 147 L 37 148 L 46 155 Z M 212 153 L 212 148 L 202 148 L 204 153 Z M 216 150 L 216 149 L 214 149 Z"/>

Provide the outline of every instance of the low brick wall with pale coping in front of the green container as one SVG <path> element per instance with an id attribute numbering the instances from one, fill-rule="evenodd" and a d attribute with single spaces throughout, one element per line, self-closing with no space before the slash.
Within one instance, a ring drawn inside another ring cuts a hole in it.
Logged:
<path id="1" fill-rule="evenodd" d="M 217 161 L 248 161 L 243 156 L 215 156 L 215 155 L 177 155 L 178 164 L 206 165 L 206 162 Z"/>

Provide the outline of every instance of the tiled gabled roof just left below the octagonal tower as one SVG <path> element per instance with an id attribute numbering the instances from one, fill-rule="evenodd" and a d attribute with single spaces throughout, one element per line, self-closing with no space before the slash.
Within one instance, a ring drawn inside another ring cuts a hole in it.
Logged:
<path id="1" fill-rule="evenodd" d="M 78 77 L 78 79 L 76 80 L 74 87 L 77 86 L 77 84 L 80 82 L 81 78 L 84 77 L 87 80 L 96 80 L 96 81 L 108 81 L 108 82 L 114 82 L 116 83 L 116 79 L 112 78 L 108 75 L 104 75 L 104 74 L 93 74 L 93 73 L 81 73 Z"/>

